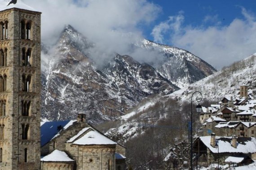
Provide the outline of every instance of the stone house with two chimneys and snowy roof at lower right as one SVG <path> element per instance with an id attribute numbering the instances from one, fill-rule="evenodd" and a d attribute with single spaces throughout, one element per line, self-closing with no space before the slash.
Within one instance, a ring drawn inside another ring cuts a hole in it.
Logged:
<path id="1" fill-rule="evenodd" d="M 234 162 L 248 165 L 256 159 L 256 138 L 236 136 L 201 136 L 193 142 L 194 165 Z M 240 160 L 237 162 L 237 160 Z"/>

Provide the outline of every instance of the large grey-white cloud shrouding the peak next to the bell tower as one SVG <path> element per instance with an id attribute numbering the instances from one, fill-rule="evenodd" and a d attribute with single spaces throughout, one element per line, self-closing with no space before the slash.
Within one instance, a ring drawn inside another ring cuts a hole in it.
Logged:
<path id="1" fill-rule="evenodd" d="M 22 1 L 42 12 L 43 43 L 54 45 L 64 26 L 70 24 L 95 43 L 95 48 L 90 52 L 98 60 L 107 59 L 114 52 L 128 54 L 131 43 L 143 38 L 141 28 L 149 25 L 161 12 L 158 5 L 147 0 Z M 136 51 L 132 54 L 136 55 L 137 60 L 144 55 Z"/>

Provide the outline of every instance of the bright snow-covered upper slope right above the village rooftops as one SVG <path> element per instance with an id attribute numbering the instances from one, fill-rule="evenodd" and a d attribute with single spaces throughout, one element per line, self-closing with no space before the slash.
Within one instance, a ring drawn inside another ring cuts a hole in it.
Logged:
<path id="1" fill-rule="evenodd" d="M 248 85 L 248 93 L 256 93 L 256 54 L 232 64 L 211 76 L 175 91 L 169 97 L 186 101 L 194 91 L 200 91 L 203 99 L 218 101 L 224 96 L 237 96 L 240 85 Z"/>

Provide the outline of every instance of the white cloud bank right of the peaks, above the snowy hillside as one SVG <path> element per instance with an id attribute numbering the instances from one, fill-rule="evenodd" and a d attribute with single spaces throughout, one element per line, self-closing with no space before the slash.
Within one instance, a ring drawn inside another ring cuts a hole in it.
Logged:
<path id="1" fill-rule="evenodd" d="M 164 31 L 170 33 L 160 32 L 159 35 L 154 36 L 154 41 L 162 41 L 188 50 L 219 69 L 256 52 L 255 16 L 243 7 L 241 7 L 241 13 L 243 19 L 235 18 L 227 26 L 220 26 L 215 22 L 213 26 L 208 27 L 184 26 L 185 19 L 180 23 L 178 18 L 181 18 L 181 14 L 179 13 L 177 16 L 172 16 L 176 19 L 172 21 L 168 19 L 154 27 L 157 29 L 160 25 L 167 24 L 168 30 Z M 208 17 L 204 21 L 209 19 Z M 165 39 L 159 41 L 158 37 L 165 37 Z"/>

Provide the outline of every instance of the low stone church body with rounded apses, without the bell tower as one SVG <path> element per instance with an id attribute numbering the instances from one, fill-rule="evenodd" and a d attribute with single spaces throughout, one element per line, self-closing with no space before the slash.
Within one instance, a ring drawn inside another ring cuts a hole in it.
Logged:
<path id="1" fill-rule="evenodd" d="M 41 170 L 125 170 L 125 147 L 77 120 L 41 125 Z"/>

